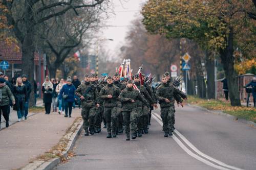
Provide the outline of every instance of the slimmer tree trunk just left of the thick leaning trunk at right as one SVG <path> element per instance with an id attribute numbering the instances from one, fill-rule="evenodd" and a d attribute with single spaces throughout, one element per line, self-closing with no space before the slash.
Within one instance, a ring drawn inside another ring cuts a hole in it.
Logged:
<path id="1" fill-rule="evenodd" d="M 206 54 L 206 71 L 207 71 L 207 97 L 208 99 L 215 99 L 215 77 L 214 77 L 214 69 L 215 62 L 214 59 L 211 58 L 208 52 Z"/>

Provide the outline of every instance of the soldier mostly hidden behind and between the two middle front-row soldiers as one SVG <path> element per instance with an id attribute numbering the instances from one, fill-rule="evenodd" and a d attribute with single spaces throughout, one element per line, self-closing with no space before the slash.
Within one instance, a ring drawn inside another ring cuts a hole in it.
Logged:
<path id="1" fill-rule="evenodd" d="M 117 86 L 120 90 L 125 89 L 126 86 L 120 82 L 120 75 L 118 73 L 116 73 L 113 76 L 113 80 L 114 80 L 113 84 L 115 86 Z M 121 104 L 120 101 L 118 101 L 117 107 L 118 107 L 118 113 L 117 113 L 117 132 L 118 133 L 123 133 L 122 104 Z"/>

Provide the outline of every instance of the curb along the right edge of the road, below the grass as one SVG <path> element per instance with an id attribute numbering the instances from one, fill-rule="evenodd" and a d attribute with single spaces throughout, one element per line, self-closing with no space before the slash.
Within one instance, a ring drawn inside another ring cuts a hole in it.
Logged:
<path id="1" fill-rule="evenodd" d="M 224 112 L 222 112 L 222 111 L 220 111 L 220 110 L 219 110 L 219 111 L 217 111 L 217 110 L 216 110 L 216 111 L 208 110 L 208 109 L 206 109 L 206 108 L 204 108 L 204 107 L 197 106 L 197 105 L 191 105 L 191 104 L 187 104 L 187 106 L 194 107 L 194 108 L 198 108 L 198 109 L 200 109 L 200 110 L 207 111 L 207 112 L 210 112 L 210 113 L 213 113 L 213 114 L 219 114 L 219 115 L 222 115 L 222 116 L 226 116 L 226 117 L 228 117 L 228 118 L 231 119 L 231 120 L 236 120 L 236 121 L 238 121 L 239 123 L 243 123 L 243 124 L 249 125 L 249 126 L 252 127 L 252 128 L 256 128 L 256 123 L 251 122 L 251 121 L 249 121 L 249 120 L 246 120 L 246 119 L 244 119 L 244 118 L 239 118 L 239 117 L 237 117 L 237 116 L 233 116 L 233 115 L 224 113 Z"/>

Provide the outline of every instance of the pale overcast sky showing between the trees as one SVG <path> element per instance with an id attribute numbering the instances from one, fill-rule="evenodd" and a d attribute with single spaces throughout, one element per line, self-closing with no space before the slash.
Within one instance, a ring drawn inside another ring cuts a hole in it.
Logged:
<path id="1" fill-rule="evenodd" d="M 124 39 L 131 26 L 131 21 L 137 18 L 138 15 L 141 15 L 141 5 L 146 0 L 112 0 L 112 2 L 114 4 L 115 14 L 111 15 L 104 23 L 104 25 L 111 27 L 103 28 L 100 37 L 102 39 L 114 40 L 105 41 L 104 46 L 107 51 L 110 51 L 112 57 L 118 57 L 119 47 L 125 44 Z"/>

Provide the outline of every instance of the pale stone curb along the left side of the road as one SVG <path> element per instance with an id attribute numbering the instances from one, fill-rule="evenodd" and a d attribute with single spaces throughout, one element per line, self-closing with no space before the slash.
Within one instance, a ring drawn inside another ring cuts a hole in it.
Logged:
<path id="1" fill-rule="evenodd" d="M 21 168 L 20 170 L 52 170 L 61 162 L 61 158 L 67 158 L 68 153 L 74 148 L 75 142 L 82 131 L 83 120 L 78 123 L 77 130 L 69 137 L 69 142 L 67 145 L 67 151 L 63 151 L 61 156 L 58 158 L 50 159 L 49 161 L 34 161 Z"/>

